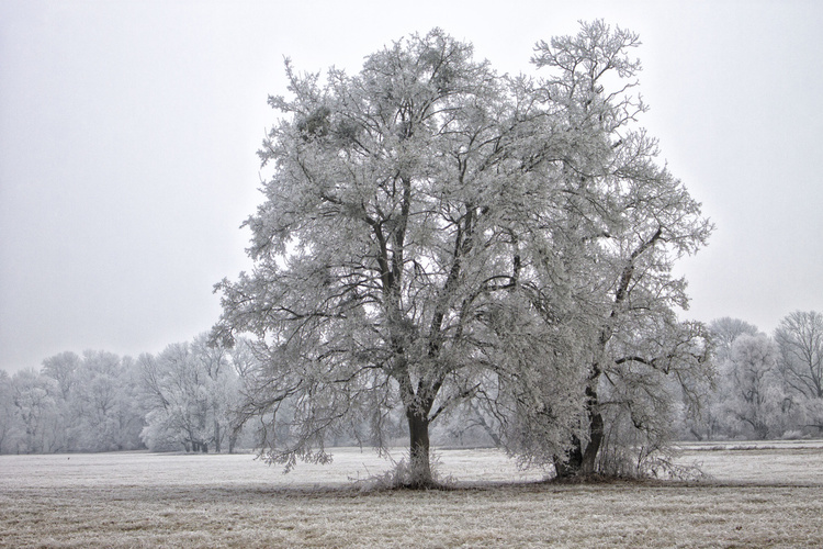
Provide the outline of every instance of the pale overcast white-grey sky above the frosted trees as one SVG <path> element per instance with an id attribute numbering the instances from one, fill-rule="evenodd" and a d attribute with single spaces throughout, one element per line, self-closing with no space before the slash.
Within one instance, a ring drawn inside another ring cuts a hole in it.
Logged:
<path id="1" fill-rule="evenodd" d="M 519 72 L 597 18 L 641 35 L 644 125 L 718 227 L 684 317 L 823 311 L 823 2 L 0 0 L 0 368 L 211 327 L 284 56 L 353 72 L 440 26 Z"/>

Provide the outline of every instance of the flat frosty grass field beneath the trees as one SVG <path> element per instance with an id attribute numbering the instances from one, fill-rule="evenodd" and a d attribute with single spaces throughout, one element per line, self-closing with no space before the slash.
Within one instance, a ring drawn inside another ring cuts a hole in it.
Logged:
<path id="1" fill-rule="evenodd" d="M 439 450 L 450 490 L 375 490 L 336 449 L 283 475 L 249 455 L 0 456 L 0 547 L 821 547 L 823 444 L 684 447 L 711 480 L 540 482 L 495 450 Z M 398 451 L 396 458 L 401 457 Z"/>

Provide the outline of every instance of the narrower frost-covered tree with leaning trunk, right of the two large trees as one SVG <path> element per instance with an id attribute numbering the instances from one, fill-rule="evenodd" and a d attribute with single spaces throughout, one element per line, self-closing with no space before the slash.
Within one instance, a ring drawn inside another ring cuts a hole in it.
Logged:
<path id="1" fill-rule="evenodd" d="M 632 94 L 640 61 L 631 57 L 639 44 L 601 21 L 583 24 L 574 36 L 539 43 L 532 60 L 548 76 L 520 82 L 531 101 L 516 150 L 545 181 L 549 201 L 545 249 L 531 260 L 534 309 L 553 333 L 571 334 L 560 343 L 563 359 L 578 361 L 584 406 L 565 451 L 552 453 L 556 445 L 540 433 L 556 419 L 533 406 L 518 410 L 528 421 L 510 444 L 553 461 L 560 475 L 628 472 L 615 453 L 647 456 L 665 445 L 678 403 L 697 413 L 711 378 L 708 330 L 678 320 L 688 296 L 672 269 L 712 226 L 640 125 L 646 107 Z M 542 380 L 550 392 L 557 385 Z"/>

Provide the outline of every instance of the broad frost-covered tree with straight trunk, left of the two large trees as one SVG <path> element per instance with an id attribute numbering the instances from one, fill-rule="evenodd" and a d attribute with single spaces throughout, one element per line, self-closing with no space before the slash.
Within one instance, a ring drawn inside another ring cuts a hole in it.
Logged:
<path id="1" fill-rule="evenodd" d="M 408 483 L 426 485 L 429 425 L 494 368 L 485 347 L 511 339 L 483 325 L 506 306 L 493 294 L 516 283 L 517 224 L 534 217 L 533 182 L 505 146 L 512 98 L 441 31 L 369 56 L 356 76 L 289 76 L 293 99 L 270 100 L 285 116 L 261 152 L 267 200 L 246 223 L 255 270 L 221 284 L 216 333 L 258 336 L 259 410 L 291 402 L 292 444 L 271 459 L 324 460 L 327 429 L 363 419 L 381 445 L 399 406 Z"/>

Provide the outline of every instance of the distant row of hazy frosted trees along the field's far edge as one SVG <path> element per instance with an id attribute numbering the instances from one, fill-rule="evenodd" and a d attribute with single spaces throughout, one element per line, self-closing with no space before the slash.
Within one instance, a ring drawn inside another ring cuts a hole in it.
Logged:
<path id="1" fill-rule="evenodd" d="M 710 324 L 715 382 L 700 410 L 681 410 L 684 439 L 767 439 L 820 436 L 823 432 L 823 315 L 794 312 L 775 334 L 736 318 Z M 225 452 L 266 437 L 288 438 L 289 410 L 279 410 L 277 433 L 261 434 L 246 413 L 253 400 L 245 383 L 260 368 L 253 345 L 208 345 L 205 334 L 137 359 L 106 351 L 63 352 L 40 371 L 0 370 L 0 452 L 112 451 Z M 273 413 L 273 412 L 272 412 Z M 403 417 L 394 418 L 397 437 Z M 443 417 L 435 444 L 494 445 L 478 407 Z M 372 444 L 340 434 L 329 445 Z M 354 429 L 357 433 L 357 429 Z"/>

